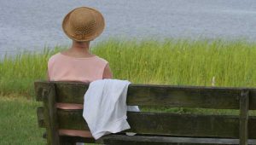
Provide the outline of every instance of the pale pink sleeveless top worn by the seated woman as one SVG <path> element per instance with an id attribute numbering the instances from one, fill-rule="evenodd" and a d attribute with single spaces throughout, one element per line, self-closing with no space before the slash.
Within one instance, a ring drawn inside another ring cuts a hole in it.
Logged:
<path id="1" fill-rule="evenodd" d="M 98 57 L 76 58 L 57 53 L 48 61 L 50 81 L 79 81 L 90 83 L 102 79 L 108 61 Z M 59 109 L 83 109 L 83 104 L 58 103 Z M 60 130 L 60 135 L 91 137 L 90 131 Z"/>

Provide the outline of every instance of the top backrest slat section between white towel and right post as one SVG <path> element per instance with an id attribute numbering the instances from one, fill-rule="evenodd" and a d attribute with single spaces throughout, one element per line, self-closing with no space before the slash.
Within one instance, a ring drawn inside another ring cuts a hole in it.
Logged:
<path id="1" fill-rule="evenodd" d="M 127 103 L 147 106 L 237 109 L 240 94 L 241 90 L 131 86 L 127 93 Z"/>

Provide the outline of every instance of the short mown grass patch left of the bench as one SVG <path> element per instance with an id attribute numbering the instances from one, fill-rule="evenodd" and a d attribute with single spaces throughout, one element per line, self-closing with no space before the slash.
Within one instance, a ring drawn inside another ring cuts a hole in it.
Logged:
<path id="1" fill-rule="evenodd" d="M 37 102 L 24 97 L 0 96 L 0 144 L 45 144 L 44 129 L 38 128 Z"/>

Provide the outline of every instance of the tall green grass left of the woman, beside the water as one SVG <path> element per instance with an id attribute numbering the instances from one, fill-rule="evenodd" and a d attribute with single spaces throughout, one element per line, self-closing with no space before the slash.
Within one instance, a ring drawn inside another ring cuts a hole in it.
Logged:
<path id="1" fill-rule="evenodd" d="M 33 95 L 33 82 L 45 79 L 47 61 L 61 48 L 44 49 L 42 52 L 22 52 L 14 57 L 5 56 L 0 61 L 0 94 Z"/>

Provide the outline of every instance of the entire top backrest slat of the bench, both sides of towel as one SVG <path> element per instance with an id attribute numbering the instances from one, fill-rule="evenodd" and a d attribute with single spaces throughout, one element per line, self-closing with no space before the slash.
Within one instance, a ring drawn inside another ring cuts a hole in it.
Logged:
<path id="1" fill-rule="evenodd" d="M 42 88 L 49 82 L 36 82 L 38 101 L 42 100 Z M 84 103 L 84 93 L 89 84 L 55 83 L 57 102 Z M 127 104 L 139 106 L 201 107 L 239 109 L 241 88 L 185 87 L 170 85 L 130 84 Z M 256 109 L 256 93 L 250 96 L 249 109 Z M 252 103 L 252 102 L 253 103 Z"/>

